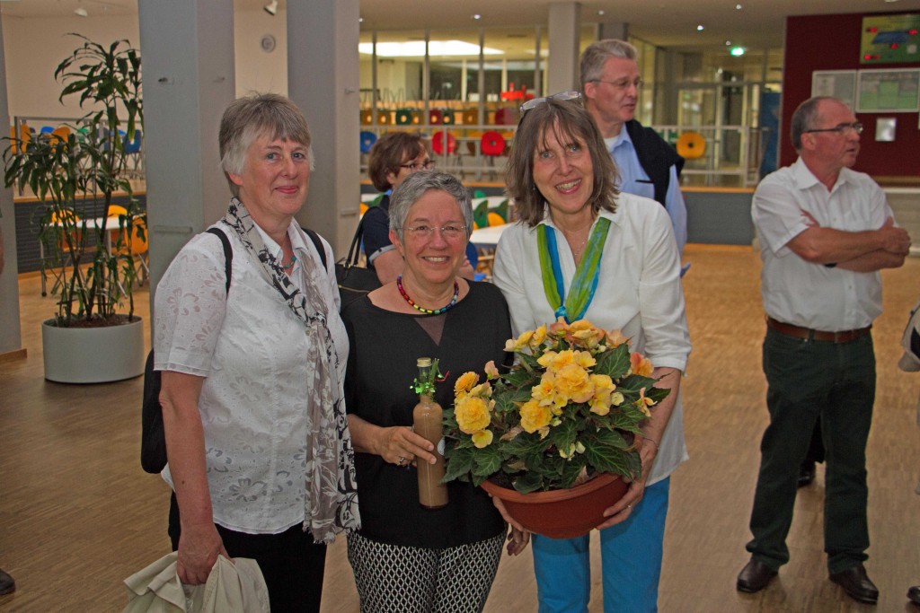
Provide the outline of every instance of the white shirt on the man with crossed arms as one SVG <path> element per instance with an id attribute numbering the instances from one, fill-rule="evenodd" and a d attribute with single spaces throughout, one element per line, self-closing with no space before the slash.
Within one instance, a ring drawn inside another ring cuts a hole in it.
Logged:
<path id="1" fill-rule="evenodd" d="M 796 255 L 788 242 L 809 227 L 803 210 L 822 227 L 845 232 L 878 230 L 892 216 L 881 187 L 849 168 L 840 171 L 830 191 L 801 158 L 766 176 L 751 205 L 764 262 L 764 311 L 781 322 L 815 330 L 868 326 L 881 313 L 880 273 L 825 267 Z"/>

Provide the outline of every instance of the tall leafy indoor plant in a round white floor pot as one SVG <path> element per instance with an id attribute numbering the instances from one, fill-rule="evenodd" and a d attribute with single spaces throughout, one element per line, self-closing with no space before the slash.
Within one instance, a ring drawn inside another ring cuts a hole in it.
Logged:
<path id="1" fill-rule="evenodd" d="M 141 58 L 127 40 L 105 47 L 74 36 L 82 44 L 54 71 L 63 84 L 59 99 L 78 96 L 81 108 L 92 108 L 68 126 L 69 133 L 7 139 L 4 183 L 28 186 L 45 204 L 38 215 L 39 240 L 48 255 L 41 274 L 53 269 L 56 276 L 56 312 L 42 327 L 45 378 L 121 380 L 144 372 L 143 324 L 133 313 L 132 297 L 138 268 L 130 239 L 146 226 L 136 219 L 143 213 L 132 199 L 125 153 L 143 125 Z M 116 192 L 127 194 L 129 204 L 118 226 L 109 227 Z M 99 222 L 87 221 L 100 213 Z M 64 345 L 49 346 L 60 342 Z M 92 358 L 100 347 L 106 349 L 105 359 Z"/>

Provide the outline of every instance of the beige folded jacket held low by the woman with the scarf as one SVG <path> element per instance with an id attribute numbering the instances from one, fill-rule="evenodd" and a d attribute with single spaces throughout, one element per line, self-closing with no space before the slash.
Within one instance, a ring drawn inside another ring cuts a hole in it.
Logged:
<path id="1" fill-rule="evenodd" d="M 269 590 L 255 560 L 218 556 L 207 583 L 182 585 L 176 559 L 174 551 L 124 580 L 125 613 L 268 613 Z"/>

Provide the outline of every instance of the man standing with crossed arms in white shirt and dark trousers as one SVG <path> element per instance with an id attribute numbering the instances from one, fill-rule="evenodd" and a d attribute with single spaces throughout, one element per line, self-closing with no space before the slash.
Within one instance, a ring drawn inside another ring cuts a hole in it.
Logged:
<path id="1" fill-rule="evenodd" d="M 831 581 L 876 604 L 869 580 L 866 441 L 875 401 L 870 328 L 881 312 L 881 268 L 903 266 L 910 237 L 894 226 L 881 187 L 850 168 L 862 124 L 844 102 L 812 97 L 792 115 L 795 164 L 753 195 L 766 312 L 764 373 L 770 424 L 751 514 L 751 560 L 737 588 L 765 588 L 786 546 L 799 465 L 821 421 L 827 471 L 824 551 Z"/>

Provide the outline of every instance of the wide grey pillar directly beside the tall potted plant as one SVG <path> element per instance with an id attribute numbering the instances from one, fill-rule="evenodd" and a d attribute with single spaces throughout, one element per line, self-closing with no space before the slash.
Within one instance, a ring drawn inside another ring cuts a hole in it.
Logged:
<path id="1" fill-rule="evenodd" d="M 235 96 L 233 3 L 138 0 L 137 8 L 152 306 L 178 250 L 230 199 L 217 136 Z"/>

